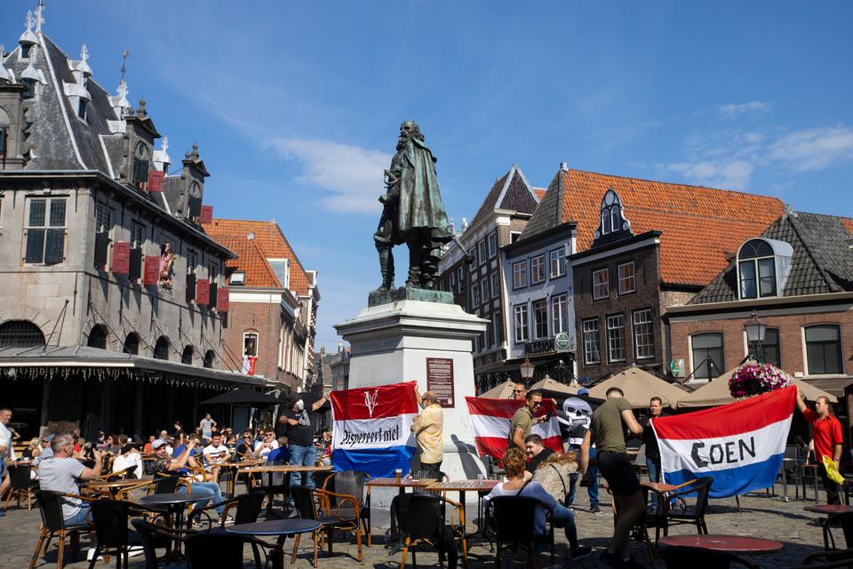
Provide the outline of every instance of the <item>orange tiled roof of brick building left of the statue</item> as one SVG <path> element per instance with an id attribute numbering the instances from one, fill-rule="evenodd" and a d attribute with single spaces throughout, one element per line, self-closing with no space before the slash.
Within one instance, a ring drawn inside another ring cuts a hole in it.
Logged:
<path id="1" fill-rule="evenodd" d="M 291 262 L 291 290 L 302 296 L 308 293 L 308 276 L 299 257 L 293 252 L 291 244 L 282 233 L 275 221 L 224 220 L 214 219 L 202 226 L 204 231 L 221 244 L 235 244 L 240 249 L 234 249 L 240 258 L 229 261 L 228 267 L 246 271 L 246 286 L 280 287 L 282 284 L 249 284 L 249 274 L 259 283 L 278 283 L 275 273 L 270 268 L 267 259 L 287 259 Z M 248 239 L 254 233 L 253 239 Z M 250 247 L 246 243 L 254 246 Z M 257 248 L 257 252 L 255 251 Z M 243 259 L 241 251 L 246 252 Z M 260 253 L 260 256 L 258 255 Z M 262 262 L 261 262 L 262 261 Z M 267 272 L 268 271 L 268 274 Z"/>

